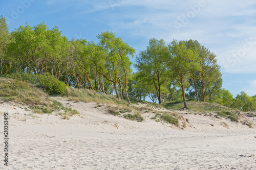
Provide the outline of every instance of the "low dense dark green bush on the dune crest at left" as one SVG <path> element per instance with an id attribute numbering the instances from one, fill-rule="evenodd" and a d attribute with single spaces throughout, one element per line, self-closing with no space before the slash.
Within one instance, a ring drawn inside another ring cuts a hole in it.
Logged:
<path id="1" fill-rule="evenodd" d="M 35 84 L 50 95 L 63 94 L 67 92 L 66 87 L 68 87 L 68 85 L 50 75 L 10 74 L 4 75 L 4 77 Z"/>

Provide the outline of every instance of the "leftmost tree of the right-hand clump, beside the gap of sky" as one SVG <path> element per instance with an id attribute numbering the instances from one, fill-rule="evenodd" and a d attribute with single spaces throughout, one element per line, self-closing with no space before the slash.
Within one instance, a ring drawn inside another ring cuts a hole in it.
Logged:
<path id="1" fill-rule="evenodd" d="M 140 74 L 146 77 L 144 84 L 155 86 L 158 102 L 162 103 L 161 86 L 168 81 L 168 71 L 164 63 L 168 57 L 168 50 L 162 39 L 152 38 L 148 42 L 146 50 L 141 51 L 139 57 L 136 57 L 135 66 Z"/>

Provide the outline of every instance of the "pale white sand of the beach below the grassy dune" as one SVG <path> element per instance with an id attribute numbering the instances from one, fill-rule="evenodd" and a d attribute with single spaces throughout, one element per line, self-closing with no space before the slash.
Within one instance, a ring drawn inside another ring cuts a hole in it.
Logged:
<path id="1" fill-rule="evenodd" d="M 251 129 L 225 119 L 182 114 L 190 125 L 181 130 L 157 123 L 146 113 L 145 121 L 138 123 L 95 108 L 95 103 L 62 103 L 80 116 L 65 120 L 0 105 L 0 111 L 10 115 L 9 166 L 1 161 L 0 169 L 256 169 L 254 124 Z M 2 114 L 2 138 L 3 119 Z M 0 147 L 3 159 L 4 144 Z"/>

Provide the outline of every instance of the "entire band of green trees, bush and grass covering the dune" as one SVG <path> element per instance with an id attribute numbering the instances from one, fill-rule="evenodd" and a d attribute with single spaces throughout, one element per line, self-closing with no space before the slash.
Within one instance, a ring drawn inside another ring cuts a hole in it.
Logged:
<path id="1" fill-rule="evenodd" d="M 0 76 L 9 78 L 0 79 L 1 99 L 44 106 L 34 108 L 44 113 L 54 108 L 54 102 L 48 102 L 49 94 L 59 94 L 72 101 L 115 104 L 123 109 L 110 112 L 119 114 L 131 112 L 127 108 L 131 101 L 150 98 L 153 106 L 214 112 L 235 122 L 238 117 L 234 110 L 256 108 L 256 95 L 242 91 L 233 98 L 221 88 L 216 55 L 197 40 L 165 44 L 162 39 L 151 38 L 146 49 L 138 53 L 134 63 L 138 72 L 132 74 L 130 58 L 135 49 L 111 31 L 97 38 L 98 43 L 69 40 L 57 26 L 50 29 L 44 22 L 34 27 L 27 23 L 10 33 L 1 16 Z"/>

